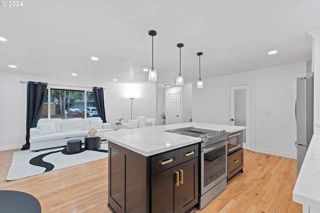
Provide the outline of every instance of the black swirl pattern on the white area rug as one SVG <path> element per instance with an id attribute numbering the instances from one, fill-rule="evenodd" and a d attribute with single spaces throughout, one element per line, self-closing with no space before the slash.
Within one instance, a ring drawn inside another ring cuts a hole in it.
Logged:
<path id="1" fill-rule="evenodd" d="M 81 153 L 81 152 L 84 152 L 84 151 L 85 151 L 85 149 L 84 149 L 84 148 L 81 148 L 81 151 L 80 151 L 80 152 L 77 152 L 77 153 L 67 153 L 67 152 L 66 152 L 66 148 L 64 148 L 64 149 L 62 149 L 62 150 L 57 150 L 57 151 L 48 152 L 48 153 L 44 153 L 44 154 L 38 155 L 38 156 L 32 158 L 32 159 L 29 161 L 29 163 L 30 163 L 31 165 L 33 165 L 33 166 L 43 167 L 43 168 L 45 168 L 45 171 L 44 171 L 44 172 L 49 172 L 49 171 L 53 170 L 54 165 L 43 161 L 43 158 L 44 158 L 45 156 L 50 155 L 50 154 L 53 154 L 53 153 L 58 153 L 58 152 L 61 152 L 61 153 L 64 154 L 64 155 L 74 155 L 74 154 L 78 154 L 78 153 Z M 107 150 L 100 150 L 100 149 L 92 150 L 92 151 L 105 152 L 105 153 L 108 152 Z"/>

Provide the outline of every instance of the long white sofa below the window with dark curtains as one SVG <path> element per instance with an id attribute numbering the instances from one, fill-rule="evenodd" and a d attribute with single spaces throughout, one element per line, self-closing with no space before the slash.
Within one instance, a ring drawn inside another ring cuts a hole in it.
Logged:
<path id="1" fill-rule="evenodd" d="M 81 139 L 88 135 L 89 129 L 97 132 L 112 131 L 111 124 L 102 123 L 100 117 L 92 118 L 41 118 L 37 127 L 30 128 L 30 151 L 66 146 L 66 141 Z"/>

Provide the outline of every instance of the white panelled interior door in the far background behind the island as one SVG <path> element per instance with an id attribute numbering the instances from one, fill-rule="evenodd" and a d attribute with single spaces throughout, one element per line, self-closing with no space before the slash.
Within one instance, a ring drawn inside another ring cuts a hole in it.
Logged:
<path id="1" fill-rule="evenodd" d="M 165 124 L 181 123 L 181 97 L 180 93 L 167 94 L 167 112 Z"/>

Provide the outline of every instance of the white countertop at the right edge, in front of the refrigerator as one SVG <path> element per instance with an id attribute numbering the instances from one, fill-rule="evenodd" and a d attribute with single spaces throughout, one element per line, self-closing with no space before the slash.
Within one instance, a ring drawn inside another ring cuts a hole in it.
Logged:
<path id="1" fill-rule="evenodd" d="M 292 200 L 320 212 L 320 123 L 313 125 L 313 136 L 292 192 Z"/>

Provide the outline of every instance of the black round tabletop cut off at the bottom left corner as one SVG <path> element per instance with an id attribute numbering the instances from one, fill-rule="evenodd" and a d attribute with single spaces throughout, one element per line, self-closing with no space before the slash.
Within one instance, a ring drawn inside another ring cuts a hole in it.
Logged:
<path id="1" fill-rule="evenodd" d="M 41 213 L 41 206 L 27 193 L 0 190 L 0 213 Z"/>

